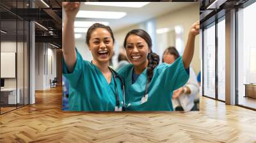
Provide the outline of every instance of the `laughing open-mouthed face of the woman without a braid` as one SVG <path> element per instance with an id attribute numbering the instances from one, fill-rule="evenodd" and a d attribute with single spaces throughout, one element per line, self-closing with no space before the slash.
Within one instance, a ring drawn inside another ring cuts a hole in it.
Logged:
<path id="1" fill-rule="evenodd" d="M 95 29 L 89 40 L 89 49 L 92 51 L 93 60 L 98 63 L 108 63 L 113 56 L 113 39 L 107 29 Z"/>

